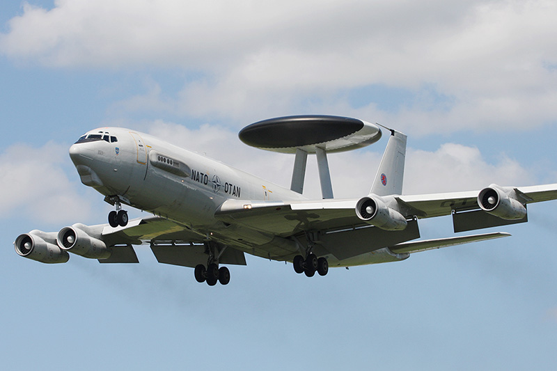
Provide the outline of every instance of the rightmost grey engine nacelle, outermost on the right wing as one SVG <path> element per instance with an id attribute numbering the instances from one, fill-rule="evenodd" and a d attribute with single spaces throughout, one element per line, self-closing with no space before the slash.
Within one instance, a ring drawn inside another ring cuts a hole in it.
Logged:
<path id="1" fill-rule="evenodd" d="M 526 207 L 515 196 L 514 189 L 503 189 L 496 184 L 482 189 L 478 194 L 478 205 L 489 214 L 501 219 L 516 220 L 526 216 Z"/>

